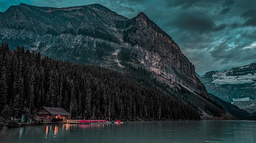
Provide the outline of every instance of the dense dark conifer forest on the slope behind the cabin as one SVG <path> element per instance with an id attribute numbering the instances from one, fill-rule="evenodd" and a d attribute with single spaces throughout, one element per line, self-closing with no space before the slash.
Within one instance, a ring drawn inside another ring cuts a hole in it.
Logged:
<path id="1" fill-rule="evenodd" d="M 25 114 L 31 118 L 38 108 L 52 106 L 69 111 L 73 119 L 200 119 L 184 103 L 140 84 L 143 79 L 132 80 L 99 66 L 56 61 L 47 56 L 40 59 L 39 53 L 25 52 L 22 47 L 10 52 L 6 47 L 0 47 L 0 68 L 6 67 L 8 73 L 4 106 L 9 108 L 4 110 L 12 112 L 7 116 Z"/>

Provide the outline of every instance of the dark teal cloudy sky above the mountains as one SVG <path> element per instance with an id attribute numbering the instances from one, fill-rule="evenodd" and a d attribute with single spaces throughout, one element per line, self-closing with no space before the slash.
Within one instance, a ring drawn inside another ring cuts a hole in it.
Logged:
<path id="1" fill-rule="evenodd" d="M 256 62 L 256 0 L 0 0 L 11 5 L 69 7 L 99 3 L 128 18 L 144 12 L 205 72 Z"/>

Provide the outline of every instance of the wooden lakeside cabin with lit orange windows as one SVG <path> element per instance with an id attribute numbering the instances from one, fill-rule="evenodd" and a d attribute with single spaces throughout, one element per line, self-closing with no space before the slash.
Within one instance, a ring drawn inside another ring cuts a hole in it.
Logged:
<path id="1" fill-rule="evenodd" d="M 66 121 L 71 119 L 70 113 L 63 108 L 56 107 L 41 107 L 37 112 L 34 119 L 41 119 L 43 121 Z"/>

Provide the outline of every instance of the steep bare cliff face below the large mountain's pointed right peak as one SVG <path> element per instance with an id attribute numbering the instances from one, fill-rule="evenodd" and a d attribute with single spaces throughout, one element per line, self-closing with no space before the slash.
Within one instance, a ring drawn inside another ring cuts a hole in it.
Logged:
<path id="1" fill-rule="evenodd" d="M 175 81 L 197 93 L 207 92 L 195 76 L 195 67 L 178 45 L 144 13 L 129 20 L 123 39 L 141 52 L 143 58 L 139 62 L 162 80 Z"/>

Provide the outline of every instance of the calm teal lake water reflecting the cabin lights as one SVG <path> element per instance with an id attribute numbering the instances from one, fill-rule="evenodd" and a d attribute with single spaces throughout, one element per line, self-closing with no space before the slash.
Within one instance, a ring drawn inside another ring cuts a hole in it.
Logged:
<path id="1" fill-rule="evenodd" d="M 0 130 L 0 143 L 256 143 L 256 121 L 127 121 Z"/>

